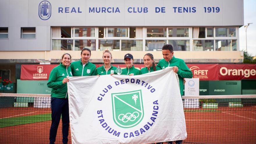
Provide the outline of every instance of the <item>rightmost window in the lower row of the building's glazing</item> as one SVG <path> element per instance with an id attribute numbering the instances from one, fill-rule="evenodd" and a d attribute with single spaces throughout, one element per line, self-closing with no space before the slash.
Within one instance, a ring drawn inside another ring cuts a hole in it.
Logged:
<path id="1" fill-rule="evenodd" d="M 216 51 L 236 51 L 237 40 L 215 40 Z"/>

